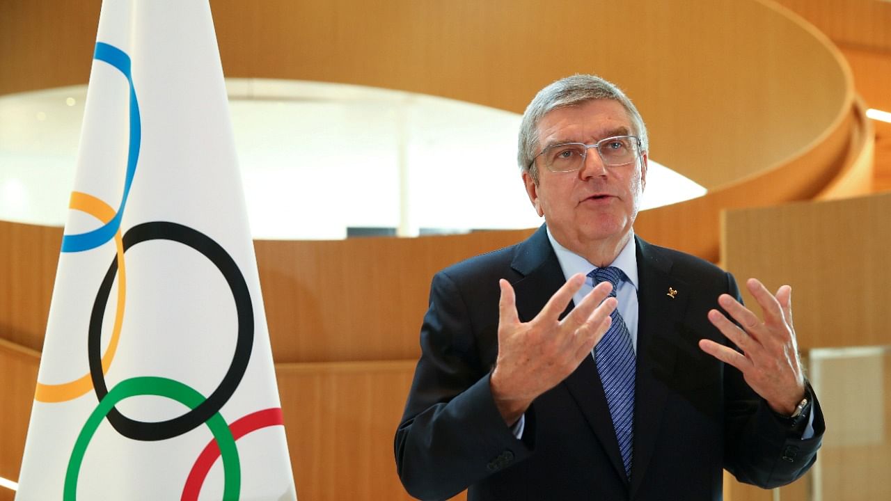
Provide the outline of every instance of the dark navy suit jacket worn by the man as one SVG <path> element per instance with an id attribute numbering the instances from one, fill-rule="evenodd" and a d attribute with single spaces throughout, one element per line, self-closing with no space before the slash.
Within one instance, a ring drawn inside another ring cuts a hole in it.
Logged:
<path id="1" fill-rule="evenodd" d="M 593 357 L 535 399 L 521 439 L 495 407 L 489 374 L 498 349 L 498 279 L 513 285 L 524 322 L 565 283 L 542 226 L 524 242 L 433 278 L 421 359 L 396 430 L 396 466 L 410 494 L 445 499 L 469 488 L 470 501 L 716 500 L 723 468 L 764 488 L 804 474 L 825 429 L 819 404 L 816 434 L 802 440 L 738 370 L 699 349 L 704 338 L 727 343 L 706 315 L 721 293 L 740 298 L 732 275 L 640 238 L 635 244 L 640 304 L 631 480 Z"/>

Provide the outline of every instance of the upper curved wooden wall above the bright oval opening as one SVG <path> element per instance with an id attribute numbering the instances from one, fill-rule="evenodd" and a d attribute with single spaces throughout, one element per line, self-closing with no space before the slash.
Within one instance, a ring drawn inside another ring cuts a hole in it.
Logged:
<path id="1" fill-rule="evenodd" d="M 4 5 L 0 94 L 86 83 L 97 0 Z M 609 0 L 211 6 L 231 77 L 380 86 L 519 112 L 556 78 L 601 74 L 640 107 L 652 156 L 708 188 L 795 156 L 852 97 L 825 37 L 756 0 L 634 0 L 609 22 L 595 21 L 614 11 Z"/>

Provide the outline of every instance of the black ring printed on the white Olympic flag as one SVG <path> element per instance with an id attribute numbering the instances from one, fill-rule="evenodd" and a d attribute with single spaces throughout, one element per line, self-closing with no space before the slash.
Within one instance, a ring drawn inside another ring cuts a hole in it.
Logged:
<path id="1" fill-rule="evenodd" d="M 235 263 L 235 260 L 217 242 L 189 226 L 179 225 L 168 221 L 153 221 L 134 226 L 124 234 L 124 252 L 139 242 L 150 240 L 171 240 L 188 245 L 198 250 L 207 259 L 217 266 L 225 277 L 229 289 L 235 300 L 235 311 L 238 316 L 238 340 L 235 342 L 235 353 L 232 363 L 226 371 L 223 381 L 217 386 L 217 390 L 184 415 L 180 415 L 168 421 L 143 422 L 130 419 L 120 414 L 117 407 L 112 407 L 108 414 L 109 422 L 121 435 L 135 440 L 164 440 L 182 435 L 199 427 L 210 416 L 217 414 L 225 403 L 232 397 L 238 388 L 241 378 L 248 368 L 250 352 L 254 345 L 254 310 L 250 301 L 248 284 L 244 281 L 244 275 Z M 105 316 L 105 307 L 108 304 L 111 285 L 114 283 L 118 271 L 118 259 L 111 260 L 111 266 L 99 292 L 93 303 L 93 312 L 90 316 L 90 326 L 87 338 L 87 357 L 90 363 L 90 376 L 93 379 L 93 387 L 96 397 L 102 398 L 108 394 L 105 384 L 105 374 L 102 374 L 102 317 Z"/>

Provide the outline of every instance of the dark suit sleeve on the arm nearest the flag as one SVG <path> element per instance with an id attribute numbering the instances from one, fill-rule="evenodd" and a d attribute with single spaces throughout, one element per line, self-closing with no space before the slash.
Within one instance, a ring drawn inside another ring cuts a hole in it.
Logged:
<path id="1" fill-rule="evenodd" d="M 489 306 L 497 314 L 497 302 Z M 444 272 L 434 276 L 421 327 L 421 359 L 395 439 L 396 469 L 414 497 L 452 497 L 531 454 L 495 407 L 490 367 L 478 353 L 474 329 L 497 325 L 472 320 L 452 278 Z M 534 436 L 529 427 L 527 420 L 526 437 Z"/>

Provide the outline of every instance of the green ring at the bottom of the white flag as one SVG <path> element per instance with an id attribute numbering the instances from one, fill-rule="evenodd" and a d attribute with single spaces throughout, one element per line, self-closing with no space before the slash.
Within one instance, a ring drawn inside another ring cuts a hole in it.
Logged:
<path id="1" fill-rule="evenodd" d="M 119 382 L 112 388 L 105 398 L 99 402 L 93 413 L 87 418 L 84 427 L 80 430 L 78 439 L 74 442 L 74 450 L 68 462 L 68 470 L 65 472 L 65 487 L 62 491 L 64 501 L 74 501 L 78 497 L 78 476 L 80 465 L 84 462 L 86 446 L 89 445 L 93 435 L 108 415 L 109 411 L 124 398 L 138 397 L 141 395 L 156 395 L 167 397 L 189 407 L 195 408 L 205 400 L 198 391 L 193 390 L 182 382 L 163 377 L 135 377 Z M 238 448 L 235 447 L 235 439 L 229 425 L 220 413 L 210 416 L 205 424 L 217 441 L 220 448 L 220 456 L 223 458 L 224 487 L 223 499 L 238 499 L 241 491 L 241 463 L 238 457 Z"/>

